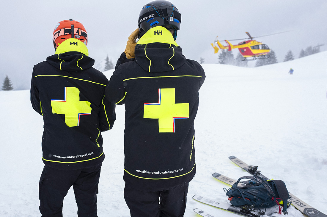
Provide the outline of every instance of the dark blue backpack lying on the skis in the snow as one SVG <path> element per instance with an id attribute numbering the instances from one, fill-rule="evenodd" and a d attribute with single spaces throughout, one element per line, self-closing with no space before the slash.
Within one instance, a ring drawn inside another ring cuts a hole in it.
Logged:
<path id="1" fill-rule="evenodd" d="M 288 214 L 286 209 L 289 207 L 287 206 L 289 194 L 284 181 L 267 181 L 257 175 L 243 176 L 230 189 L 224 188 L 224 190 L 233 206 L 250 210 L 253 208 L 269 208 L 278 204 L 279 213 L 282 213 L 283 206 L 283 213 Z M 282 201 L 283 205 L 280 206 Z"/>

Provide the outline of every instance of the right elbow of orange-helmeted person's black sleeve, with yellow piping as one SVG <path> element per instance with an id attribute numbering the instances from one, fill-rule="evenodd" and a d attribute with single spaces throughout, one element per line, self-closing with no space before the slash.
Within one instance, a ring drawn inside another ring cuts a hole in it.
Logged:
<path id="1" fill-rule="evenodd" d="M 105 96 L 103 96 L 99 112 L 100 131 L 112 129 L 113 123 L 116 120 L 115 107 L 115 104 L 109 102 Z"/>

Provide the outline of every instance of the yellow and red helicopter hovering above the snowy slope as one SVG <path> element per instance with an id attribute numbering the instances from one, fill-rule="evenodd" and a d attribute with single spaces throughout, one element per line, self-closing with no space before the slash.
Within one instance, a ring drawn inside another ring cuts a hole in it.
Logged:
<path id="1" fill-rule="evenodd" d="M 288 32 L 288 31 L 287 31 Z M 227 46 L 223 46 L 219 40 L 215 40 L 215 43 L 212 43 L 212 47 L 215 49 L 215 53 L 217 53 L 220 49 L 228 49 L 228 51 L 231 51 L 234 48 L 238 48 L 240 51 L 240 54 L 244 57 L 244 60 L 255 60 L 255 59 L 264 59 L 269 57 L 269 52 L 270 49 L 266 44 L 263 44 L 259 41 L 252 40 L 254 37 L 250 35 L 249 32 L 245 32 L 249 38 L 242 38 L 242 39 L 233 39 L 230 41 L 235 41 L 235 40 L 244 40 L 237 45 L 232 45 L 228 40 L 225 40 Z M 284 32 L 283 32 L 284 33 Z M 280 33 L 275 33 L 275 34 L 280 34 Z M 271 34 L 271 35 L 275 35 Z M 270 36 L 270 35 L 266 35 Z M 263 37 L 263 36 L 259 36 Z M 216 46 L 217 45 L 217 46 Z M 253 57 L 253 59 L 247 59 Z"/>

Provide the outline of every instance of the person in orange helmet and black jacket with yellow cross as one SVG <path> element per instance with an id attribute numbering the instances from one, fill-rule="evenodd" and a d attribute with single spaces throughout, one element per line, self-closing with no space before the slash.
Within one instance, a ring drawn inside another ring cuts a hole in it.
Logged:
<path id="1" fill-rule="evenodd" d="M 43 116 L 39 183 L 42 216 L 62 216 L 73 186 L 77 215 L 97 216 L 96 194 L 105 158 L 101 132 L 115 121 L 115 105 L 104 98 L 108 79 L 93 68 L 82 23 L 60 21 L 53 32 L 55 54 L 33 68 L 31 103 Z"/>

